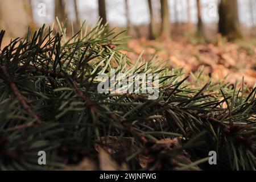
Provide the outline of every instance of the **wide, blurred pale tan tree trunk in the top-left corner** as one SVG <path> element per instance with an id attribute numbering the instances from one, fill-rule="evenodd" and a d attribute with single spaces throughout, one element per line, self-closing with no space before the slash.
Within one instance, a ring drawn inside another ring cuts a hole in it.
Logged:
<path id="1" fill-rule="evenodd" d="M 7 35 L 21 37 L 27 33 L 32 23 L 32 10 L 27 5 L 27 0 L 1 0 L 0 28 L 6 30 Z"/>

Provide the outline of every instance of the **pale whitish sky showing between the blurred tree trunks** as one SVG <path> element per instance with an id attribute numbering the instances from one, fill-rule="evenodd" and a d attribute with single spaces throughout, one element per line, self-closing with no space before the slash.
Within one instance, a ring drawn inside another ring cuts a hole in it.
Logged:
<path id="1" fill-rule="evenodd" d="M 67 9 L 69 12 L 69 18 L 74 19 L 74 7 L 73 1 L 67 1 Z M 81 20 L 87 20 L 89 23 L 95 23 L 98 17 L 98 5 L 97 0 L 77 0 L 79 5 L 79 14 Z M 170 6 L 170 19 L 172 22 L 175 21 L 174 16 L 174 1 L 168 0 Z M 179 16 L 177 19 L 179 22 L 187 22 L 187 11 L 186 11 L 186 1 L 187 0 L 176 0 L 177 2 L 177 11 Z M 250 5 L 249 1 L 251 0 L 238 0 L 238 10 L 240 14 L 240 21 L 242 24 L 246 26 L 250 26 L 252 24 L 252 19 L 250 16 Z M 254 19 L 256 20 L 256 0 L 254 2 Z M 34 18 L 37 23 L 52 23 L 54 18 L 54 0 L 34 0 L 32 1 L 34 5 Z M 107 4 L 107 12 L 108 12 L 108 21 L 110 24 L 114 26 L 125 26 L 125 0 L 106 0 Z M 131 23 L 133 24 L 143 24 L 149 22 L 149 14 L 148 14 L 148 6 L 147 0 L 129 0 L 129 13 Z M 154 13 L 156 19 L 159 19 L 159 0 L 152 0 L 154 6 Z M 217 2 L 218 0 L 201 0 L 202 6 L 202 15 L 203 21 L 205 23 L 216 23 L 218 21 L 217 15 Z M 39 3 L 45 3 L 46 5 L 46 16 L 39 17 Z M 192 22 L 197 22 L 196 18 L 196 0 L 189 0 L 189 4 L 191 6 L 191 20 Z M 255 22 L 256 23 L 256 22 Z"/>

